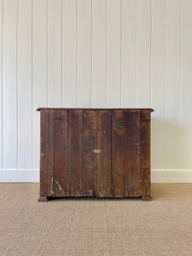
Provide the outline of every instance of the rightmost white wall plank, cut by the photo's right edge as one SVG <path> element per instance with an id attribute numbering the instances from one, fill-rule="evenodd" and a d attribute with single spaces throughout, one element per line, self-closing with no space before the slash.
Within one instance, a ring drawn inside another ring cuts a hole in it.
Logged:
<path id="1" fill-rule="evenodd" d="M 192 169 L 192 1 L 182 1 L 182 170 Z"/>

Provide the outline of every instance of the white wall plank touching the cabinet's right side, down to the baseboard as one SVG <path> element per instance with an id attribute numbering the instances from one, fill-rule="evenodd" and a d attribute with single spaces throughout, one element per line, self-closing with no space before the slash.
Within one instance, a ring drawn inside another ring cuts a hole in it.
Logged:
<path id="1" fill-rule="evenodd" d="M 165 169 L 166 1 L 151 2 L 152 169 Z"/>

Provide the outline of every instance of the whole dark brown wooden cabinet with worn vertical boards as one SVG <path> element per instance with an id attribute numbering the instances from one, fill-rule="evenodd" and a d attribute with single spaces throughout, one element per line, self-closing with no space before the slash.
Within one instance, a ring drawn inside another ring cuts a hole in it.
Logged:
<path id="1" fill-rule="evenodd" d="M 151 108 L 38 108 L 40 196 L 150 200 Z"/>

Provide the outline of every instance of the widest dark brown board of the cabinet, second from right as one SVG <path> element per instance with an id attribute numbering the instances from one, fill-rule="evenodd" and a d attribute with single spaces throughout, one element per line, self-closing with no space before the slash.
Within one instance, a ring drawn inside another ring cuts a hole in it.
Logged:
<path id="1" fill-rule="evenodd" d="M 113 111 L 112 195 L 138 195 L 139 112 Z"/>

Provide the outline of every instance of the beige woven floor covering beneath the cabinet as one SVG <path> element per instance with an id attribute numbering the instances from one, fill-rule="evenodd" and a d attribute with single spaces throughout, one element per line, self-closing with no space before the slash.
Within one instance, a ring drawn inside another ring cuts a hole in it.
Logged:
<path id="1" fill-rule="evenodd" d="M 153 183 L 153 201 L 55 199 L 0 183 L 0 255 L 192 255 L 192 184 Z"/>

